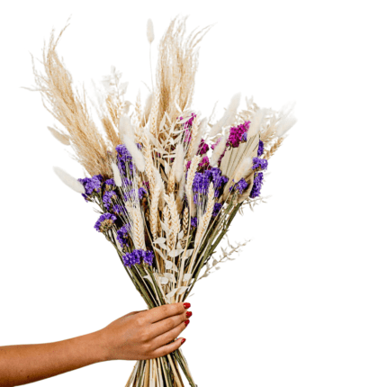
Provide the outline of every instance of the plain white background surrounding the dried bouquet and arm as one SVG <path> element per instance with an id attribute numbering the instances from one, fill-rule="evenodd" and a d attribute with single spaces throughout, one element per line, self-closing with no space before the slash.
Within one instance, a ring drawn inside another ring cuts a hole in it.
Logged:
<path id="1" fill-rule="evenodd" d="M 52 166 L 83 171 L 46 129 L 55 123 L 33 85 L 52 27 L 77 85 L 111 65 L 150 84 L 146 23 L 156 43 L 176 14 L 202 40 L 193 108 L 231 95 L 298 122 L 269 161 L 263 194 L 235 220 L 251 238 L 238 260 L 194 289 L 183 351 L 200 387 L 385 386 L 387 24 L 377 1 L 14 1 L 1 36 L 0 346 L 57 341 L 101 329 L 144 303 L 93 226 L 90 204 Z M 157 45 L 153 44 L 153 64 Z M 39 65 L 39 63 L 38 63 Z M 91 365 L 37 383 L 123 386 L 134 362 Z"/>

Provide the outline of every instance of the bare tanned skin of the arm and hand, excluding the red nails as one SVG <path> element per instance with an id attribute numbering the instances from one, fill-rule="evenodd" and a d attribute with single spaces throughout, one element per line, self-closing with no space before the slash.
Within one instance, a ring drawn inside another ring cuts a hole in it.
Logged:
<path id="1" fill-rule="evenodd" d="M 47 344 L 0 347 L 0 386 L 32 383 L 108 360 L 145 360 L 181 347 L 183 302 L 132 311 L 107 327 Z M 173 341 L 175 340 L 175 341 Z"/>

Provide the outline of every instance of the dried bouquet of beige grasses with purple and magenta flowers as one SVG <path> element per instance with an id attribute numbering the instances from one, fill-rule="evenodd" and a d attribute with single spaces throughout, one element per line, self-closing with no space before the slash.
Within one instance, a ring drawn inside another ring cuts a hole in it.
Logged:
<path id="1" fill-rule="evenodd" d="M 245 244 L 221 247 L 214 257 L 237 213 L 262 201 L 268 160 L 295 122 L 293 106 L 276 112 L 247 98 L 239 109 L 240 94 L 217 120 L 214 112 L 205 118 L 193 111 L 198 43 L 211 26 L 186 37 L 185 20 L 175 17 L 159 42 L 155 85 L 151 76 L 144 104 L 140 95 L 136 103 L 125 100 L 128 83 L 115 67 L 94 83 L 94 99 L 76 90 L 57 53 L 68 24 L 57 38 L 51 31 L 43 72 L 32 58 L 34 90 L 61 124 L 49 130 L 73 149 L 87 175 L 54 169 L 95 205 L 94 229 L 112 244 L 148 309 L 184 302 L 197 281 Z M 151 45 L 150 20 L 147 35 Z M 126 385 L 183 387 L 181 372 L 194 387 L 178 349 L 138 361 Z"/>

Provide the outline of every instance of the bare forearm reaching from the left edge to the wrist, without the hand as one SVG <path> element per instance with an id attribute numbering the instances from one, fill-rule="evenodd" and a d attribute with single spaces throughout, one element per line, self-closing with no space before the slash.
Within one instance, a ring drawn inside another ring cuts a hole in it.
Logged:
<path id="1" fill-rule="evenodd" d="M 103 360 L 99 331 L 55 343 L 0 347 L 0 386 L 36 382 Z"/>

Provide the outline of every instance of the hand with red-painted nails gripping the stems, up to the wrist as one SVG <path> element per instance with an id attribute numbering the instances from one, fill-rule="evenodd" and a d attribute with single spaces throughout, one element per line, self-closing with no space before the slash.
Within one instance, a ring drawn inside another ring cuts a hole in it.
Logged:
<path id="1" fill-rule="evenodd" d="M 188 302 L 166 304 L 148 311 L 132 311 L 99 331 L 105 360 L 146 360 L 165 356 L 181 347 L 175 340 L 186 328 Z M 175 340 L 171 342 L 172 340 Z"/>

